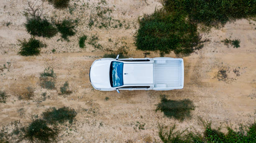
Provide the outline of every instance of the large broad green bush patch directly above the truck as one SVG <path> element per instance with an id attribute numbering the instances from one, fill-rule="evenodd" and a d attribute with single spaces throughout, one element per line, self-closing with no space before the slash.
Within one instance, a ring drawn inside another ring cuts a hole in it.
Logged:
<path id="1" fill-rule="evenodd" d="M 197 24 L 186 20 L 185 15 L 156 10 L 151 15 L 144 15 L 139 24 L 137 49 L 189 54 L 202 48 Z"/>

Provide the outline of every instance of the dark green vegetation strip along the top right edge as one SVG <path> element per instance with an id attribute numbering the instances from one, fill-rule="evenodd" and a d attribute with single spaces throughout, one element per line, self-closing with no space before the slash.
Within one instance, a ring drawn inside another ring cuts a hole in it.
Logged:
<path id="1" fill-rule="evenodd" d="M 193 22 L 215 26 L 256 15 L 255 0 L 161 0 L 169 12 L 188 15 Z"/>

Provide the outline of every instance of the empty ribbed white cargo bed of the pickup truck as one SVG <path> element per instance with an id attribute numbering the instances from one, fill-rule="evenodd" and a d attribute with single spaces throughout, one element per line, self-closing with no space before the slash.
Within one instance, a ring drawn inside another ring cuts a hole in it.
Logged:
<path id="1" fill-rule="evenodd" d="M 182 89 L 183 84 L 183 59 L 154 59 L 154 90 Z"/>

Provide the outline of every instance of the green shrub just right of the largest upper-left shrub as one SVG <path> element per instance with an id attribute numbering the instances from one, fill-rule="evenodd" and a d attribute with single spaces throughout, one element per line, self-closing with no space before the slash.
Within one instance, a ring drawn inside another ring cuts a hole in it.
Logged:
<path id="1" fill-rule="evenodd" d="M 55 24 L 61 33 L 61 37 L 68 41 L 68 36 L 75 35 L 74 23 L 71 20 L 63 20 Z"/>

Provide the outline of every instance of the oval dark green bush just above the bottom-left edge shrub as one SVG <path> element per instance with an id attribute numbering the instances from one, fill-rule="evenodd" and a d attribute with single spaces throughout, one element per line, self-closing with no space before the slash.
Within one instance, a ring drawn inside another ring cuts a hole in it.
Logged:
<path id="1" fill-rule="evenodd" d="M 77 116 L 77 112 L 69 107 L 62 107 L 59 109 L 50 108 L 45 111 L 43 114 L 43 119 L 47 121 L 47 123 L 56 124 L 56 123 L 64 123 L 69 121 L 72 123 L 74 117 Z"/>

